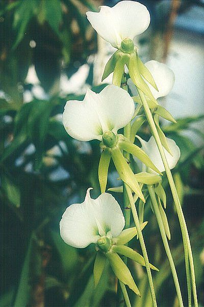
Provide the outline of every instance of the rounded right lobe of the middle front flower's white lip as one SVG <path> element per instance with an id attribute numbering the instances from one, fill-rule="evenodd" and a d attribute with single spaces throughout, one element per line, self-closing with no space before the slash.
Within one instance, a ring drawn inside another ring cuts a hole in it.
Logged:
<path id="1" fill-rule="evenodd" d="M 119 128 L 129 123 L 135 112 L 135 104 L 131 96 L 115 85 L 108 85 L 99 94 L 100 106 L 98 116 L 115 134 Z M 105 128 L 103 131 L 106 132 Z"/>

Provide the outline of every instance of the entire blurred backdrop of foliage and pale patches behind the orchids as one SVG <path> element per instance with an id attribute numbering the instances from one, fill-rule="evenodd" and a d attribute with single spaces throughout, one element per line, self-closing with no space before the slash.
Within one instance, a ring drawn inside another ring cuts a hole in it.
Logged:
<path id="1" fill-rule="evenodd" d="M 195 261 L 198 298 L 204 305 L 203 207 L 203 46 L 202 0 L 140 1 L 151 14 L 151 26 L 139 37 L 141 58 L 157 59 L 175 72 L 172 93 L 161 100 L 177 124 L 163 122 L 176 141 L 181 159 L 173 176 L 186 216 Z M 87 87 L 95 92 L 106 61 L 113 53 L 86 19 L 87 10 L 117 1 L 2 0 L 0 2 L 0 202 L 1 306 L 117 306 L 116 280 L 109 267 L 93 291 L 94 246 L 77 250 L 59 235 L 65 208 L 84 200 L 88 187 L 99 194 L 98 141 L 69 137 L 61 116 L 68 99 L 82 100 Z M 105 80 L 110 82 L 110 80 Z M 130 83 L 130 82 L 129 82 Z M 130 83 L 134 94 L 134 87 Z M 139 135 L 148 140 L 147 125 Z M 120 185 L 114 166 L 108 187 Z M 170 247 L 186 300 L 181 231 L 166 178 L 166 213 Z M 122 205 L 122 198 L 114 194 Z M 158 305 L 177 306 L 168 261 L 150 204 L 144 237 Z M 139 243 L 132 247 L 140 252 Z M 150 306 L 146 273 L 129 263 L 142 298 Z"/>

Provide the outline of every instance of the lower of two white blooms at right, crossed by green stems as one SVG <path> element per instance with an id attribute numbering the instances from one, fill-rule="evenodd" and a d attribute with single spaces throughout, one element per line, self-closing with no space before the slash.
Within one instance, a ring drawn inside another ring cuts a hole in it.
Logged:
<path id="1" fill-rule="evenodd" d="M 136 136 L 141 145 L 142 145 L 142 149 L 146 152 L 146 154 L 149 156 L 149 158 L 151 159 L 151 161 L 155 164 L 155 166 L 161 171 L 165 171 L 165 167 L 157 146 L 157 143 L 155 141 L 155 138 L 153 136 L 150 137 L 150 139 L 148 140 L 148 142 L 146 142 L 145 140 L 143 140 L 142 138 Z M 181 152 L 180 152 L 180 148 L 179 146 L 176 145 L 174 140 L 171 140 L 169 138 L 166 138 L 168 146 L 173 154 L 173 156 L 170 155 L 170 153 L 163 147 L 164 149 L 164 153 L 168 162 L 168 165 L 170 167 L 170 169 L 174 168 L 177 164 L 177 162 L 180 159 L 181 156 Z M 136 160 L 136 158 L 134 158 Z M 138 160 L 136 160 L 136 162 L 138 162 Z M 151 170 L 151 172 L 156 173 L 154 170 Z"/>

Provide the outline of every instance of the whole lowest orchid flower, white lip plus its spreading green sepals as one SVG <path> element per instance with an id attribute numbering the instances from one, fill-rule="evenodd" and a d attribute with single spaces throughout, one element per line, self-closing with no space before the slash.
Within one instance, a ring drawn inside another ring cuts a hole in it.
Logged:
<path id="1" fill-rule="evenodd" d="M 65 243 L 77 248 L 85 248 L 91 243 L 96 245 L 95 286 L 100 280 L 106 258 L 108 258 L 118 279 L 139 295 L 130 270 L 118 255 L 130 257 L 145 266 L 144 258 L 139 253 L 124 246 L 137 235 L 137 230 L 135 227 L 123 230 L 124 216 L 118 202 L 111 194 L 102 193 L 94 200 L 90 197 L 90 189 L 87 190 L 85 201 L 82 204 L 69 206 L 62 215 L 61 237 Z M 141 228 L 143 229 L 145 225 L 146 223 L 143 223 Z M 158 271 L 152 265 L 150 268 Z"/>

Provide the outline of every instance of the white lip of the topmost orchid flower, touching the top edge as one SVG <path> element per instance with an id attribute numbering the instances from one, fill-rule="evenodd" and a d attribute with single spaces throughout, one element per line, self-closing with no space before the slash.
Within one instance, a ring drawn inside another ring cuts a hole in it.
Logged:
<path id="1" fill-rule="evenodd" d="M 135 1 L 121 1 L 114 7 L 101 6 L 100 12 L 87 12 L 87 18 L 96 32 L 117 49 L 124 38 L 134 39 L 149 26 L 147 8 Z"/>

